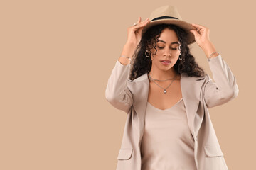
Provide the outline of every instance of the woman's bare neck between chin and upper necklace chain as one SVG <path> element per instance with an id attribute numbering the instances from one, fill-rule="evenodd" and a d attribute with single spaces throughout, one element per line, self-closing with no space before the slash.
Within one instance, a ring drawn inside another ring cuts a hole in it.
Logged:
<path id="1" fill-rule="evenodd" d="M 166 79 L 172 79 L 176 76 L 176 78 L 178 78 L 178 74 L 176 73 L 176 71 L 174 70 L 174 67 L 172 67 L 171 69 L 164 71 L 161 69 L 151 69 L 151 71 L 149 72 L 150 77 L 152 77 L 152 79 L 159 79 L 159 80 L 166 80 Z"/>

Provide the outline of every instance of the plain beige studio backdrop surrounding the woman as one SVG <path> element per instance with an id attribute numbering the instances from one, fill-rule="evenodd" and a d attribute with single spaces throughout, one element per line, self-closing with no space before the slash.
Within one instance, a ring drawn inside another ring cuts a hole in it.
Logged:
<path id="1" fill-rule="evenodd" d="M 126 113 L 105 99 L 127 27 L 166 4 L 210 28 L 238 98 L 210 108 L 229 169 L 255 169 L 252 1 L 1 1 L 0 169 L 115 169 Z M 192 55 L 210 76 L 203 50 Z"/>

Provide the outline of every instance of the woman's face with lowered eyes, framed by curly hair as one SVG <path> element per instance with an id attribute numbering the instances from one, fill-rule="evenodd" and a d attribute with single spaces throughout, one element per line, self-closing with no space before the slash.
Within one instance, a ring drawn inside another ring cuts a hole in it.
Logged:
<path id="1" fill-rule="evenodd" d="M 180 42 L 174 30 L 169 28 L 162 30 L 159 42 L 156 42 L 157 51 L 154 47 L 151 49 L 152 69 L 161 69 L 163 71 L 171 69 L 181 54 L 180 44 L 178 43 Z M 156 55 L 154 55 L 155 53 Z M 169 62 L 163 62 L 163 60 Z"/>

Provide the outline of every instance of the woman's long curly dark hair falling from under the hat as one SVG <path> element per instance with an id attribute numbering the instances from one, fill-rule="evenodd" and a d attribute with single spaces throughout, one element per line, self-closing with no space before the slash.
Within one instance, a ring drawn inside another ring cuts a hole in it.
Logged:
<path id="1" fill-rule="evenodd" d="M 145 52 L 146 50 L 151 50 L 153 46 L 154 49 L 156 49 L 156 42 L 159 41 L 158 38 L 160 37 L 162 30 L 165 28 L 174 30 L 178 36 L 179 42 L 181 42 L 180 57 L 183 60 L 177 60 L 176 64 L 174 64 L 174 70 L 176 73 L 186 73 L 188 77 L 205 76 L 204 70 L 198 66 L 195 61 L 195 57 L 190 54 L 190 49 L 188 47 L 188 33 L 183 30 L 183 28 L 176 25 L 163 23 L 152 26 L 142 34 L 142 40 L 139 42 L 139 45 L 132 56 L 132 72 L 129 74 L 129 79 L 134 80 L 142 74 L 150 72 L 152 61 L 150 56 L 145 56 Z"/>

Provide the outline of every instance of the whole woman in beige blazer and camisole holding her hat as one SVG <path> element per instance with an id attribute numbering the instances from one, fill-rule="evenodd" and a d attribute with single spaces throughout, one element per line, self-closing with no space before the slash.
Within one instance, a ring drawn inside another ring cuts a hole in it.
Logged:
<path id="1" fill-rule="evenodd" d="M 149 18 L 128 28 L 107 83 L 107 101 L 128 115 L 117 169 L 228 169 L 208 108 L 238 96 L 235 76 L 209 29 L 182 21 L 176 6 Z M 215 82 L 190 54 L 195 41 Z"/>

